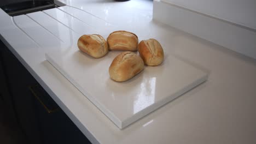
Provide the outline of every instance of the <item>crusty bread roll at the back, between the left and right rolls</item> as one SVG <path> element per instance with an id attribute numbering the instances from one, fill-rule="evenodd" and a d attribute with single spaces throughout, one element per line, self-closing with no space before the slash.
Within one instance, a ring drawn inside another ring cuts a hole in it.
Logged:
<path id="1" fill-rule="evenodd" d="M 137 51 L 138 37 L 126 31 L 115 31 L 107 38 L 109 50 Z"/>

